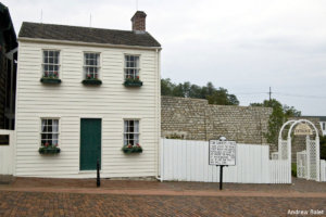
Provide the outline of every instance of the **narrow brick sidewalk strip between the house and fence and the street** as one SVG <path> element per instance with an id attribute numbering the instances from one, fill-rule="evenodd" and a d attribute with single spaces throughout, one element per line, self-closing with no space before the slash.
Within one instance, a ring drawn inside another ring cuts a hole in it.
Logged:
<path id="1" fill-rule="evenodd" d="M 96 179 L 45 179 L 15 178 L 11 184 L 0 189 L 97 189 Z M 164 191 L 218 191 L 218 183 L 178 181 L 136 181 L 101 179 L 104 190 L 164 190 Z M 224 191 L 279 192 L 279 193 L 326 193 L 326 182 L 292 179 L 291 184 L 224 183 Z"/>

